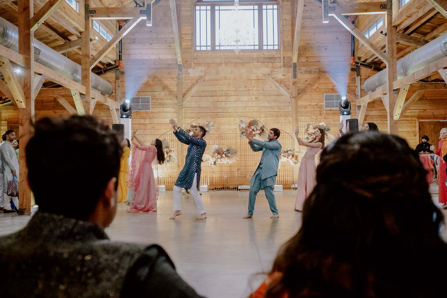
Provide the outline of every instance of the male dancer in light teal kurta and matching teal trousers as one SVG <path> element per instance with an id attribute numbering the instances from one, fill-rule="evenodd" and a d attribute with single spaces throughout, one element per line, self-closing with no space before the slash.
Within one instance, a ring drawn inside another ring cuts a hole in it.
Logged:
<path id="1" fill-rule="evenodd" d="M 270 218 L 279 217 L 275 196 L 273 194 L 273 185 L 276 181 L 276 175 L 278 175 L 279 154 L 281 153 L 282 148 L 281 144 L 278 142 L 279 134 L 280 132 L 278 128 L 270 129 L 267 140 L 264 142 L 253 139 L 253 133 L 251 132 L 245 134 L 245 137 L 249 139 L 249 144 L 252 150 L 254 152 L 262 150 L 262 156 L 261 161 L 250 180 L 249 212 L 244 218 L 253 217 L 254 202 L 256 201 L 256 195 L 261 188 L 263 188 L 266 193 L 270 211 L 273 213 Z"/>

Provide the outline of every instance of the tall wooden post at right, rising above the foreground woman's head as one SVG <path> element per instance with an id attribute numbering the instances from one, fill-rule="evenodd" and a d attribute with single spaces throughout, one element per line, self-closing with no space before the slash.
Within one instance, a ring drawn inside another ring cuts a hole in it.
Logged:
<path id="1" fill-rule="evenodd" d="M 387 2 L 388 9 L 385 14 L 387 24 L 386 51 L 388 56 L 387 69 L 387 93 L 388 93 L 388 133 L 399 135 L 399 122 L 394 120 L 393 111 L 396 105 L 397 96 L 393 92 L 393 83 L 397 80 L 397 59 L 396 59 L 396 27 L 392 25 L 392 0 Z"/>

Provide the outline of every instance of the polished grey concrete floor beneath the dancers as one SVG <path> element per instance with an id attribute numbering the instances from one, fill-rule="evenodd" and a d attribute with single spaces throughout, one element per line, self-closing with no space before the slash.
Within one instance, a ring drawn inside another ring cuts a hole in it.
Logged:
<path id="1" fill-rule="evenodd" d="M 279 218 L 271 219 L 261 191 L 253 219 L 247 213 L 248 192 L 202 193 L 208 218 L 195 219 L 197 209 L 190 195 L 183 195 L 182 215 L 172 215 L 172 192 L 160 193 L 158 212 L 128 214 L 119 204 L 114 222 L 106 229 L 112 240 L 158 243 L 171 256 L 178 272 L 199 294 L 209 298 L 247 297 L 268 272 L 278 248 L 301 224 L 295 212 L 296 191 L 276 192 Z M 433 195 L 437 202 L 437 195 Z M 447 213 L 443 211 L 447 216 Z M 0 235 L 23 227 L 28 216 L 0 213 Z M 446 229 L 442 230 L 447 236 Z M 446 237 L 447 238 L 447 237 Z"/>

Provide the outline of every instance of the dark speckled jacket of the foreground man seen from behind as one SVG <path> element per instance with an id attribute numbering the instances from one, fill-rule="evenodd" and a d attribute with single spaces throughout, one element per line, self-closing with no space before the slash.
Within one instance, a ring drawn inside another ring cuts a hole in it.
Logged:
<path id="1" fill-rule="evenodd" d="M 200 296 L 158 245 L 112 242 L 91 222 L 38 211 L 0 237 L 0 297 Z"/>

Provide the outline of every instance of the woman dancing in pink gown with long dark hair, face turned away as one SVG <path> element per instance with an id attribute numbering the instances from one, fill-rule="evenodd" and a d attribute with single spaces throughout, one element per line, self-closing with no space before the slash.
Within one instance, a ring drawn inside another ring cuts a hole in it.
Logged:
<path id="1" fill-rule="evenodd" d="M 157 211 L 158 177 L 155 179 L 152 163 L 157 159 L 157 164 L 164 163 L 163 145 L 159 139 L 152 141 L 151 146 L 146 146 L 135 135 L 132 135 L 132 143 L 135 145 L 132 151 L 132 162 L 127 185 L 132 190 L 132 199 L 128 213 L 148 213 Z M 139 144 L 133 142 L 136 139 Z"/>

